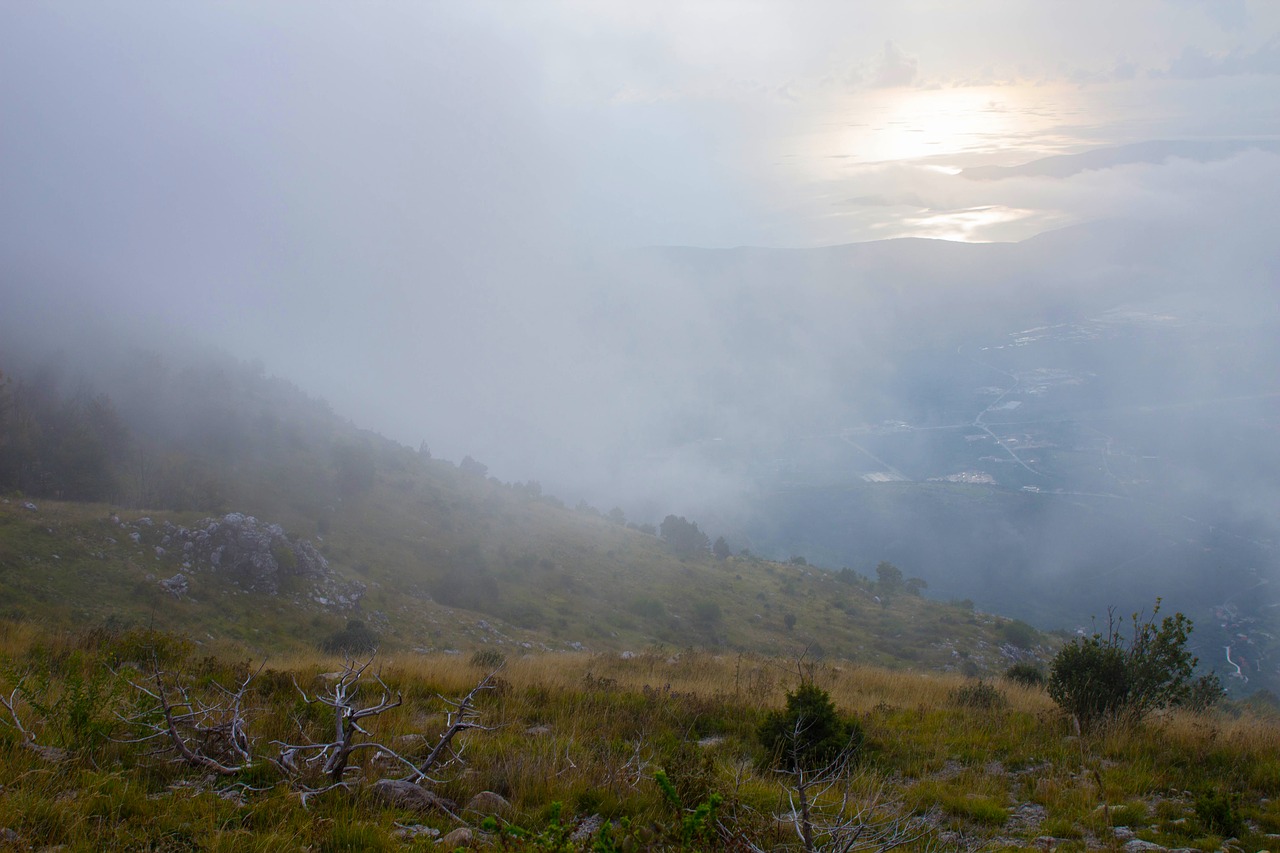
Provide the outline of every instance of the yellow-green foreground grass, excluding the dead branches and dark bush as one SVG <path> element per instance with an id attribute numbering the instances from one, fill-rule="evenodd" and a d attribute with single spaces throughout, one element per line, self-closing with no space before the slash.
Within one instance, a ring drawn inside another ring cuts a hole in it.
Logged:
<path id="1" fill-rule="evenodd" d="M 44 743 L 73 748 L 54 765 L 0 726 L 0 827 L 17 833 L 19 847 L 396 849 L 401 826 L 456 826 L 439 812 L 381 804 L 360 785 L 303 808 L 266 765 L 218 780 L 109 740 L 106 734 L 124 734 L 108 708 L 128 707 L 134 694 L 127 688 L 100 684 L 88 720 L 69 725 L 61 710 L 78 699 L 68 685 L 79 684 L 83 695 L 92 674 L 104 671 L 100 661 L 137 657 L 157 640 L 197 692 L 209 689 L 209 679 L 232 683 L 246 671 L 230 662 L 236 658 L 184 652 L 163 638 L 51 635 L 0 621 L 0 656 L 9 661 L 0 676 L 5 694 L 22 671 L 52 671 L 44 695 L 60 710 L 46 720 L 22 702 L 18 708 Z M 293 680 L 306 690 L 323 689 L 321 674 L 337 665 L 294 658 L 257 676 L 248 730 L 259 753 L 271 753 L 273 738 L 296 740 L 298 726 L 314 736 L 328 729 L 323 710 L 300 704 Z M 438 694 L 466 692 L 481 670 L 458 656 L 406 653 L 381 661 L 380 674 L 403 692 L 404 706 L 366 726 L 380 742 L 421 757 L 444 725 Z M 877 818 L 922 821 L 925 836 L 906 849 L 1029 849 L 1051 835 L 1059 839 L 1053 849 L 1119 850 L 1123 836 L 1114 827 L 1128 826 L 1169 847 L 1216 850 L 1225 831 L 1206 808 L 1215 800 L 1230 803 L 1239 849 L 1270 847 L 1275 836 L 1268 833 L 1280 831 L 1280 726 L 1274 719 L 1239 711 L 1171 715 L 1135 730 L 1076 738 L 1038 690 L 1001 684 L 1002 701 L 973 707 L 957 701 L 957 690 L 974 683 L 957 675 L 823 665 L 812 678 L 865 729 L 854 802 L 878 799 L 869 812 Z M 507 817 L 534 830 L 548 826 L 553 802 L 564 804 L 571 822 L 627 816 L 634 826 L 662 827 L 680 820 L 653 781 L 663 768 L 687 807 L 718 792 L 728 831 L 764 849 L 794 847 L 790 827 L 773 817 L 787 809 L 785 780 L 763 766 L 754 738 L 764 713 L 795 685 L 794 666 L 705 652 L 631 660 L 540 654 L 511 661 L 500 679 L 479 704 L 483 721 L 498 727 L 463 735 L 466 770 L 443 774 L 438 793 L 462 804 L 481 790 L 498 792 L 513 806 Z M 376 693 L 362 698 L 376 701 Z M 371 751 L 360 754 L 365 780 L 399 775 Z M 655 849 L 653 839 L 662 835 L 648 838 L 654 847 L 646 849 Z"/>

